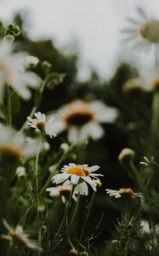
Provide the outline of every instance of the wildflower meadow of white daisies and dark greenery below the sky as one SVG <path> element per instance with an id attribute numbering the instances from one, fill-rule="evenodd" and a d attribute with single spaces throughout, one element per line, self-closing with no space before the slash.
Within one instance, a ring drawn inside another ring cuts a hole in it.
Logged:
<path id="1" fill-rule="evenodd" d="M 136 9 L 136 62 L 84 82 L 24 19 L 0 21 L 0 255 L 158 256 L 159 18 Z"/>

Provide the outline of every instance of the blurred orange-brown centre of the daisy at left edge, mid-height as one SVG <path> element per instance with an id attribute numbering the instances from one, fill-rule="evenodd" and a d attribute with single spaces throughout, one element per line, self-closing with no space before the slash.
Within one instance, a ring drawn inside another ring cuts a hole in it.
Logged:
<path id="1" fill-rule="evenodd" d="M 21 160 L 23 154 L 19 148 L 11 145 L 4 145 L 0 148 L 0 160 Z"/>

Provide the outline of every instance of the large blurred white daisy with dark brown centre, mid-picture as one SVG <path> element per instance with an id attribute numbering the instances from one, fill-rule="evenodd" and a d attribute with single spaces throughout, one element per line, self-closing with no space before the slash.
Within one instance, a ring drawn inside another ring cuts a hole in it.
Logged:
<path id="1" fill-rule="evenodd" d="M 116 113 L 115 108 L 99 101 L 70 102 L 54 113 L 55 119 L 59 121 L 54 124 L 54 131 L 60 133 L 67 130 L 70 143 L 77 143 L 88 137 L 97 140 L 104 135 L 100 123 L 112 122 L 116 119 Z"/>

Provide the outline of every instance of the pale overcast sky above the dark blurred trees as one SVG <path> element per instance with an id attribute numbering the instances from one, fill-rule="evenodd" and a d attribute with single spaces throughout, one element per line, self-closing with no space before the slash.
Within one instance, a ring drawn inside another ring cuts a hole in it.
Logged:
<path id="1" fill-rule="evenodd" d="M 14 12 L 28 11 L 31 38 L 53 38 L 68 50 L 77 41 L 81 79 L 90 67 L 103 78 L 110 76 L 122 48 L 120 30 L 126 18 L 137 6 L 155 17 L 159 9 L 158 0 L 0 0 L 0 4 L 0 19 L 6 22 Z"/>

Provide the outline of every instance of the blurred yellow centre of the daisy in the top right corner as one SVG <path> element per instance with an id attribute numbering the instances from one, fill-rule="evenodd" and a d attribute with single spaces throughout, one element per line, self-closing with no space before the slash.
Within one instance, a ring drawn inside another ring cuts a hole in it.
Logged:
<path id="1" fill-rule="evenodd" d="M 159 20 L 150 20 L 139 30 L 140 35 L 150 43 L 159 42 Z"/>

